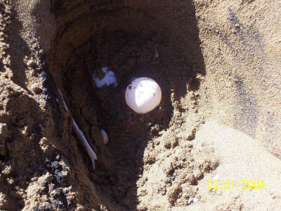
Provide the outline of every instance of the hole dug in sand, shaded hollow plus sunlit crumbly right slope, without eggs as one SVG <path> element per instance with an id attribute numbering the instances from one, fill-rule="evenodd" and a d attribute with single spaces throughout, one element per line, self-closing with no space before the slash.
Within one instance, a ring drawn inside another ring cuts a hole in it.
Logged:
<path id="1" fill-rule="evenodd" d="M 63 1 L 53 10 L 58 27 L 50 70 L 98 156 L 93 171 L 78 143 L 100 205 L 109 210 L 188 205 L 197 180 L 218 165 L 211 155 L 196 162 L 192 155 L 195 127 L 203 121 L 194 115 L 198 95 L 192 93 L 200 87 L 197 74 L 204 75 L 204 63 L 191 2 Z M 97 87 L 93 76 L 103 77 L 105 67 L 117 82 Z M 162 101 L 150 113 L 139 115 L 126 106 L 132 77 L 150 77 L 161 87 Z M 182 106 L 187 85 L 193 101 Z M 107 145 L 100 129 L 109 136 Z M 204 146 L 202 152 L 211 153 Z"/>

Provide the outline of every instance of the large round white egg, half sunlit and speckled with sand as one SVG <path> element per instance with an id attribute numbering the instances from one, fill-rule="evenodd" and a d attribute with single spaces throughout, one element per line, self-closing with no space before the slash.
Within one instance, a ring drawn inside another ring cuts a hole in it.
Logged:
<path id="1" fill-rule="evenodd" d="M 155 80 L 138 77 L 126 88 L 126 104 L 136 113 L 148 113 L 155 109 L 162 97 L 162 91 Z"/>

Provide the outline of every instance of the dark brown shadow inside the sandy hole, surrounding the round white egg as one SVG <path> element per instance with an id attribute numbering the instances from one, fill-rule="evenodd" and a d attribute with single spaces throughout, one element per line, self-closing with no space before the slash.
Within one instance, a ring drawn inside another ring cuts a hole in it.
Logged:
<path id="1" fill-rule="evenodd" d="M 79 46 L 73 44 L 77 47 L 63 76 L 67 105 L 86 137 L 97 134 L 93 128 L 105 129 L 110 137 L 104 146 L 93 136 L 98 163 L 92 174 L 101 203 L 110 210 L 137 209 L 136 183 L 145 165 L 143 153 L 149 141 L 169 128 L 174 110 L 171 94 L 179 101 L 187 91 L 200 88 L 197 75 L 205 74 L 192 1 L 155 2 L 88 14 L 87 20 L 104 15 L 103 23 L 87 25 L 93 34 Z M 96 89 L 93 72 L 103 67 L 115 72 L 117 88 Z M 126 106 L 124 94 L 131 77 L 155 79 L 162 89 L 159 107 L 138 115 Z M 90 167 L 89 158 L 86 160 Z"/>

